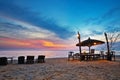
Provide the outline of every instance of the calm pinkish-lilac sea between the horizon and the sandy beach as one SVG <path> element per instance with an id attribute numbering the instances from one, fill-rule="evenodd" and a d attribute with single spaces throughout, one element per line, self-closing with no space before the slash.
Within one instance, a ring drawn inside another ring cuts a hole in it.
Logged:
<path id="1" fill-rule="evenodd" d="M 70 51 L 31 51 L 31 50 L 16 50 L 16 51 L 0 51 L 0 57 L 13 57 L 17 59 L 19 56 L 35 56 L 45 55 L 45 58 L 64 58 L 68 57 Z M 79 51 L 73 51 L 74 53 L 79 53 Z M 96 54 L 99 54 L 100 51 L 95 51 Z M 120 51 L 115 51 L 115 55 L 120 56 Z"/>

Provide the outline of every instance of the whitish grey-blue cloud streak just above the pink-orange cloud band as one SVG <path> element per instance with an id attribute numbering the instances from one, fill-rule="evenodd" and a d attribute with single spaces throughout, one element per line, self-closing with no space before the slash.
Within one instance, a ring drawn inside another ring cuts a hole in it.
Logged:
<path id="1" fill-rule="evenodd" d="M 29 24 L 0 23 L 0 37 L 15 39 L 53 39 L 58 38 L 54 33 Z"/>

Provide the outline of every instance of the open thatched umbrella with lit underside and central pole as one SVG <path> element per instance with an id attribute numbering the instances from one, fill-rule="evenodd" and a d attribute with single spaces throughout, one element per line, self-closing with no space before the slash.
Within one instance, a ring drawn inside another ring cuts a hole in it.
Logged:
<path id="1" fill-rule="evenodd" d="M 96 40 L 96 39 L 90 39 L 82 41 L 81 43 L 76 44 L 76 46 L 88 46 L 89 47 L 89 53 L 90 53 L 90 47 L 95 45 L 104 44 L 104 41 Z"/>

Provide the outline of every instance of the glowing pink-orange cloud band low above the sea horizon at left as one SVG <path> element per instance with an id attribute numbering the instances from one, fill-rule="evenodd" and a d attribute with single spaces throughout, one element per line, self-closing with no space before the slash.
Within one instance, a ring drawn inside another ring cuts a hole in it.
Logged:
<path id="1" fill-rule="evenodd" d="M 0 38 L 0 47 L 7 47 L 7 48 L 25 48 L 25 49 L 40 49 L 40 50 L 65 50 L 70 49 L 67 44 L 58 43 L 48 40 L 18 40 L 18 39 L 11 39 L 11 38 Z"/>

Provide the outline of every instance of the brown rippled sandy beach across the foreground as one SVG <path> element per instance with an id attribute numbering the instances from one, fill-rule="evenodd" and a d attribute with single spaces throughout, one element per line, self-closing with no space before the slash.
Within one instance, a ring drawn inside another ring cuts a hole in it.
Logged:
<path id="1" fill-rule="evenodd" d="M 68 61 L 0 66 L 0 80 L 120 80 L 120 60 Z"/>

